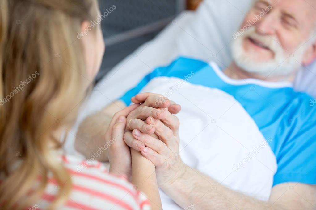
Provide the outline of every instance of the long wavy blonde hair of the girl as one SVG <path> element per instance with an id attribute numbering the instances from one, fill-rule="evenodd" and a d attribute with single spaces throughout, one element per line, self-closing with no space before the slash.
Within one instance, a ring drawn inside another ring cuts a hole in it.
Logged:
<path id="1" fill-rule="evenodd" d="M 70 194 L 70 174 L 51 152 L 62 142 L 52 133 L 69 124 L 66 119 L 74 119 L 85 95 L 84 49 L 76 37 L 81 23 L 93 20 L 93 4 L 94 0 L 0 0 L 2 209 L 33 206 L 50 174 L 60 187 L 50 209 Z M 40 184 L 35 186 L 36 181 Z"/>

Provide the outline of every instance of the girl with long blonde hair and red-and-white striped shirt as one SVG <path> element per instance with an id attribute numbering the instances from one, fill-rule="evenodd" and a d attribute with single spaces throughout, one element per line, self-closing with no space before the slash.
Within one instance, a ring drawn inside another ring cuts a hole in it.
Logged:
<path id="1" fill-rule="evenodd" d="M 1 209 L 150 208 L 124 178 L 62 150 L 104 54 L 98 14 L 96 0 L 0 0 Z"/>

